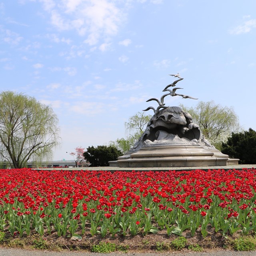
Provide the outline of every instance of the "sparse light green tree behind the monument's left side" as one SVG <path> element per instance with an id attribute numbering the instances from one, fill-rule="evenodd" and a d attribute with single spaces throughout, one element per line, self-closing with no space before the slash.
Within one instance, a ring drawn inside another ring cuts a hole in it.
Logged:
<path id="1" fill-rule="evenodd" d="M 137 112 L 134 116 L 130 116 L 128 122 L 124 123 L 127 137 L 121 139 L 118 138 L 114 142 L 111 141 L 110 145 L 115 146 L 124 154 L 132 148 L 135 142 L 140 138 L 150 119 L 151 116 L 145 116 L 144 112 Z"/>

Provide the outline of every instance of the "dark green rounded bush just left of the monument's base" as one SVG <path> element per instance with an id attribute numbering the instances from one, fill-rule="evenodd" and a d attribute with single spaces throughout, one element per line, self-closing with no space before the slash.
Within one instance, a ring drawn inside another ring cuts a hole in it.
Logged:
<path id="1" fill-rule="evenodd" d="M 108 161 L 117 160 L 122 152 L 114 146 L 91 146 L 86 148 L 83 156 L 90 166 L 109 166 Z"/>

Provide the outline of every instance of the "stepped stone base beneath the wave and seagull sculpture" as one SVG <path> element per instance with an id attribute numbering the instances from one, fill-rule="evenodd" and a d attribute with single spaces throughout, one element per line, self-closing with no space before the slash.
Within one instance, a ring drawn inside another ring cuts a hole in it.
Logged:
<path id="1" fill-rule="evenodd" d="M 130 153 L 129 157 L 120 156 L 110 166 L 118 167 L 196 167 L 226 166 L 228 156 L 218 150 L 206 150 L 198 145 L 163 145 L 142 147 Z"/>

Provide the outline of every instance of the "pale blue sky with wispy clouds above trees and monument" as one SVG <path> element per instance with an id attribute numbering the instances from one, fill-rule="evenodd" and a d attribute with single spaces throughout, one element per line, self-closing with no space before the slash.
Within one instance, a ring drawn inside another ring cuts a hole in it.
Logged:
<path id="1" fill-rule="evenodd" d="M 255 0 L 0 0 L 0 90 L 52 106 L 54 160 L 125 137 L 124 122 L 156 108 L 146 100 L 178 72 L 199 99 L 166 105 L 213 100 L 256 130 L 255 10 Z"/>

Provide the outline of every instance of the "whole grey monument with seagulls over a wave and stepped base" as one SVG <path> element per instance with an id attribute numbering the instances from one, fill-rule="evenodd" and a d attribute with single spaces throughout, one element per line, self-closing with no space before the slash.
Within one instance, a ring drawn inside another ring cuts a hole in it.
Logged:
<path id="1" fill-rule="evenodd" d="M 227 165 L 228 155 L 222 154 L 210 144 L 200 131 L 192 116 L 177 106 L 165 106 L 166 96 L 181 96 L 182 98 L 197 98 L 177 94 L 174 87 L 183 80 L 180 74 L 170 75 L 179 79 L 164 88 L 160 100 L 150 98 L 146 102 L 156 101 L 157 108 L 152 106 L 143 111 L 154 110 L 154 115 L 148 122 L 146 130 L 134 146 L 110 166 L 119 167 L 168 167 L 168 166 L 216 166 Z M 238 161 L 233 161 L 235 164 Z"/>

